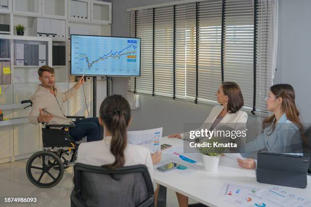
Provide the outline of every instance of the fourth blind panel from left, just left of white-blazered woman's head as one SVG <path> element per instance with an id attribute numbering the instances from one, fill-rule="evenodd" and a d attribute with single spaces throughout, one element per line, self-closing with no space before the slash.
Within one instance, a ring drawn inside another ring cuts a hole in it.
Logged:
<path id="1" fill-rule="evenodd" d="M 222 7 L 219 0 L 199 2 L 199 102 L 216 102 L 215 92 L 222 83 Z"/>

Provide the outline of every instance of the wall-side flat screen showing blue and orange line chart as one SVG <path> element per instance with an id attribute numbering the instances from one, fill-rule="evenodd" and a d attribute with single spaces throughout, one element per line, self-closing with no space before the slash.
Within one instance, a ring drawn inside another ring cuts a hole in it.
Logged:
<path id="1" fill-rule="evenodd" d="M 71 34 L 74 76 L 140 76 L 140 38 Z"/>

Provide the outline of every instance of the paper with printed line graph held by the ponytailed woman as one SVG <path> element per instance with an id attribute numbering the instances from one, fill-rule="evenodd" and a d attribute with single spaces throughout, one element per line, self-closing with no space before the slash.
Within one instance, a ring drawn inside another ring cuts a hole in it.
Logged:
<path id="1" fill-rule="evenodd" d="M 153 154 L 161 150 L 160 139 L 162 137 L 162 131 L 163 127 L 141 131 L 128 131 L 128 143 L 147 147 L 150 153 Z"/>

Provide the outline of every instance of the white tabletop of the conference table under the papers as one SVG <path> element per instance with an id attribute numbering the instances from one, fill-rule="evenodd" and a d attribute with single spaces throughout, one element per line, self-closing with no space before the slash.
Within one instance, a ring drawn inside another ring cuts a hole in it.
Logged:
<path id="1" fill-rule="evenodd" d="M 183 142 L 180 139 L 169 139 L 167 137 L 162 137 L 161 140 L 161 144 L 170 144 L 173 147 L 183 146 Z M 282 188 L 288 192 L 296 193 L 296 195 L 311 198 L 311 177 L 307 177 L 308 185 L 305 189 L 285 186 Z M 224 183 L 259 189 L 268 189 L 273 186 L 257 182 L 255 169 L 241 168 L 237 162 L 226 156 L 220 158 L 219 168 L 216 172 L 205 171 L 203 165 L 201 170 L 197 170 L 191 175 L 182 175 L 176 170 L 161 172 L 154 169 L 153 181 L 210 207 L 234 206 L 226 202 L 225 197 L 221 196 Z"/>

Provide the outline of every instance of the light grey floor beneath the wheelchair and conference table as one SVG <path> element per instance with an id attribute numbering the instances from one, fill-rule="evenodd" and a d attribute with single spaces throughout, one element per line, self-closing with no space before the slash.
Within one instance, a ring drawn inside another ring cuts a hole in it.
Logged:
<path id="1" fill-rule="evenodd" d="M 26 176 L 27 159 L 0 164 L 0 206 L 70 206 L 73 167 L 65 170 L 63 179 L 52 188 L 39 188 Z M 5 203 L 5 197 L 36 197 L 37 203 Z M 168 189 L 167 206 L 177 207 L 175 192 Z"/>

